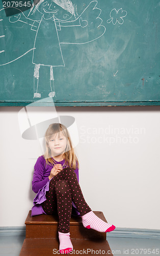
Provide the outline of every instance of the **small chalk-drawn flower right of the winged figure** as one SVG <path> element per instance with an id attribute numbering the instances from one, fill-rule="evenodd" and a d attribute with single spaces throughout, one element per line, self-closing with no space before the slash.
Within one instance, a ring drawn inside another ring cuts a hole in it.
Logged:
<path id="1" fill-rule="evenodd" d="M 116 23 L 118 22 L 119 24 L 123 24 L 124 20 L 123 18 L 127 15 L 126 11 L 122 11 L 122 8 L 120 8 L 118 11 L 116 9 L 113 9 L 110 12 L 110 17 L 107 20 L 107 23 L 113 23 L 113 25 L 116 25 Z"/>

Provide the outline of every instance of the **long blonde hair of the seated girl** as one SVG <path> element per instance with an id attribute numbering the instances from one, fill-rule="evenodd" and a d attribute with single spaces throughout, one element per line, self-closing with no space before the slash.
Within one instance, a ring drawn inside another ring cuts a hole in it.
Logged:
<path id="1" fill-rule="evenodd" d="M 57 135 L 57 133 L 59 133 L 59 132 L 62 132 L 67 140 L 67 145 L 66 145 L 66 149 L 65 149 L 65 153 L 64 153 L 65 163 L 68 164 L 68 166 L 70 168 L 73 168 L 73 169 L 79 168 L 78 159 L 75 155 L 69 132 L 68 132 L 66 126 L 61 123 L 50 124 L 48 129 L 45 132 L 46 152 L 44 153 L 44 158 L 45 158 L 46 164 L 55 165 L 55 163 L 56 163 L 54 161 L 54 159 L 51 157 L 51 151 L 49 148 L 49 140 L 53 135 Z"/>

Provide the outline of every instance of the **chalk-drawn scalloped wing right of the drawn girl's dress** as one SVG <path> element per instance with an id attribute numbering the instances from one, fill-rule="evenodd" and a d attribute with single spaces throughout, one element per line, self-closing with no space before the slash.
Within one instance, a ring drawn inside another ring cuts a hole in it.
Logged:
<path id="1" fill-rule="evenodd" d="M 86 44 L 104 34 L 105 27 L 99 17 L 101 10 L 96 5 L 97 1 L 92 1 L 75 20 L 57 26 L 61 44 Z"/>

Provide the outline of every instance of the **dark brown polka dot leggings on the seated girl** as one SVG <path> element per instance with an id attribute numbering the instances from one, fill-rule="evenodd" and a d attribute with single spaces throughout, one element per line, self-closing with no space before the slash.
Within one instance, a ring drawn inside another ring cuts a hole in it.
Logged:
<path id="1" fill-rule="evenodd" d="M 49 191 L 46 191 L 46 200 L 42 203 L 42 208 L 46 214 L 58 213 L 58 231 L 60 232 L 69 232 L 72 201 L 81 216 L 91 211 L 83 197 L 74 170 L 67 167 L 50 180 Z"/>

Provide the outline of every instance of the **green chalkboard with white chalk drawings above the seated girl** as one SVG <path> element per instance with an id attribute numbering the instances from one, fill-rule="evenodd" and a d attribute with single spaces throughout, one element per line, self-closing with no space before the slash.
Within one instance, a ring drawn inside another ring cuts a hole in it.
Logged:
<path id="1" fill-rule="evenodd" d="M 160 105 L 158 0 L 0 3 L 1 105 Z"/>

